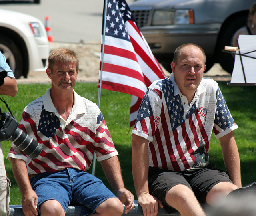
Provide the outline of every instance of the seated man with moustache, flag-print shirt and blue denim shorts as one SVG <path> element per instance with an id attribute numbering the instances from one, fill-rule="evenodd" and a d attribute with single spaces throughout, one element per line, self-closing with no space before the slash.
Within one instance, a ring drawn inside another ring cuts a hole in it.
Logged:
<path id="1" fill-rule="evenodd" d="M 71 202 L 82 205 L 82 216 L 120 216 L 122 203 L 127 213 L 134 206 L 134 196 L 124 188 L 118 153 L 102 113 L 73 90 L 79 66 L 76 54 L 58 48 L 48 63 L 52 87 L 27 105 L 20 120 L 20 128 L 42 144 L 43 150 L 31 159 L 12 145 L 7 156 L 22 194 L 24 214 L 40 211 L 42 216 L 64 216 Z M 119 199 L 86 172 L 94 152 Z"/>

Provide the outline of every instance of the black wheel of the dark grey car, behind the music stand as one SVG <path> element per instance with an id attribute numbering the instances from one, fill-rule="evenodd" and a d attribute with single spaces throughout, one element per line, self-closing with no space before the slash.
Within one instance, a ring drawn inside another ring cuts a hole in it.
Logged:
<path id="1" fill-rule="evenodd" d="M 247 15 L 237 16 L 235 19 L 230 20 L 225 26 L 218 37 L 218 44 L 216 47 L 216 54 L 218 63 L 228 73 L 232 73 L 234 67 L 234 56 L 229 53 L 222 52 L 225 46 L 232 46 L 234 34 L 242 26 L 246 25 Z"/>

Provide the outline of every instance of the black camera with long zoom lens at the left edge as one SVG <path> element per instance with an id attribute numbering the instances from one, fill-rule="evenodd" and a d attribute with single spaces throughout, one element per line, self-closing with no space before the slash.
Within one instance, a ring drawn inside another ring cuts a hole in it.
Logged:
<path id="1" fill-rule="evenodd" d="M 0 142 L 10 140 L 28 157 L 35 159 L 42 151 L 42 146 L 22 129 L 18 120 L 11 113 L 0 115 Z"/>

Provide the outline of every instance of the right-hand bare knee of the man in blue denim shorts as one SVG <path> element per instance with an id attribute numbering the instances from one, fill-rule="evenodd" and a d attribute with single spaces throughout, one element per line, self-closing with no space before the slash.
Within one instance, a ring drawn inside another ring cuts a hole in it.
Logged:
<path id="1" fill-rule="evenodd" d="M 106 216 L 121 216 L 124 212 L 124 206 L 118 198 L 112 197 L 102 202 L 96 212 Z"/>

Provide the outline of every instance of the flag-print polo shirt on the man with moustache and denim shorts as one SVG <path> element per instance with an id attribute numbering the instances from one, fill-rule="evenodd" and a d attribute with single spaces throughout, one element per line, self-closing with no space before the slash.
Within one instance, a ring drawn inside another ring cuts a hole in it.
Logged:
<path id="1" fill-rule="evenodd" d="M 98 106 L 75 91 L 74 105 L 67 121 L 54 107 L 49 89 L 26 106 L 19 127 L 42 144 L 43 150 L 36 159 L 30 159 L 12 144 L 7 158 L 26 161 L 31 174 L 65 168 L 86 171 L 94 152 L 98 161 L 118 155 Z"/>

